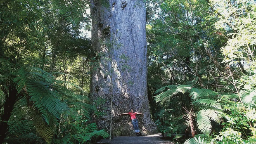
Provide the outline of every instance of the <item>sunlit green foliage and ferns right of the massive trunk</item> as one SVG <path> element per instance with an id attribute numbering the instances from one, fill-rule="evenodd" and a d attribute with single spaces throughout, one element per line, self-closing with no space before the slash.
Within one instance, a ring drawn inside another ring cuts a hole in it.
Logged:
<path id="1" fill-rule="evenodd" d="M 160 19 L 148 27 L 156 38 L 149 36 L 150 49 L 162 50 L 150 61 L 170 78 L 167 86 L 152 85 L 156 125 L 177 143 L 255 144 L 256 2 L 175 2 L 159 2 Z"/>

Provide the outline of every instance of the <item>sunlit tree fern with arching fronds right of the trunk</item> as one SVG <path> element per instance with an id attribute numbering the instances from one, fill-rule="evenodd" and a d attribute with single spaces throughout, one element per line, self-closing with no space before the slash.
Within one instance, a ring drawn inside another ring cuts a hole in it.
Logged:
<path id="1" fill-rule="evenodd" d="M 166 90 L 166 88 L 169 89 Z M 211 120 L 220 124 L 223 109 L 222 105 L 216 101 L 218 95 L 220 95 L 218 92 L 208 89 L 191 88 L 189 85 L 162 87 L 157 92 L 161 91 L 164 92 L 155 97 L 156 102 L 164 102 L 166 99 L 173 97 L 176 94 L 189 94 L 192 98 L 192 104 L 198 108 L 196 118 L 197 127 L 203 134 L 209 135 L 211 133 Z"/>

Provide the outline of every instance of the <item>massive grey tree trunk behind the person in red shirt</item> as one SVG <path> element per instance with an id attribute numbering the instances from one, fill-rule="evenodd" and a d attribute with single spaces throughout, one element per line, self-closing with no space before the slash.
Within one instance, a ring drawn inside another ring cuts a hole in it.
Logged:
<path id="1" fill-rule="evenodd" d="M 90 98 L 95 120 L 112 136 L 134 135 L 133 108 L 143 135 L 156 131 L 147 97 L 146 8 L 144 0 L 91 0 L 92 62 Z"/>

